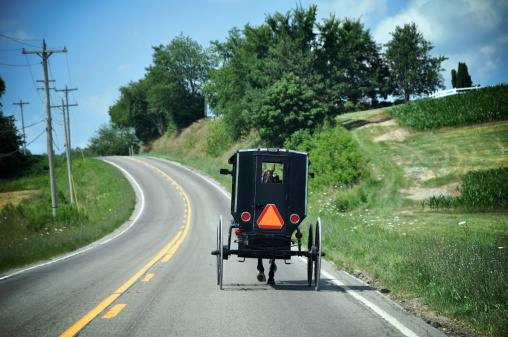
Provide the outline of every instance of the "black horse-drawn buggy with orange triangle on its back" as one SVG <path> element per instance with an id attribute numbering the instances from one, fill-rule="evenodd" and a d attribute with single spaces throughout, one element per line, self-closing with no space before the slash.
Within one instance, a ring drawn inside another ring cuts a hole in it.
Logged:
<path id="1" fill-rule="evenodd" d="M 257 258 L 258 271 L 261 259 L 290 260 L 292 256 L 307 257 L 309 287 L 314 274 L 315 289 L 319 290 L 321 273 L 321 221 L 318 218 L 315 232 L 310 224 L 306 250 L 302 250 L 300 224 L 307 216 L 307 186 L 309 155 L 305 152 L 284 149 L 246 149 L 236 151 L 228 160 L 233 169 L 221 169 L 231 174 L 231 214 L 227 244 L 222 242 L 222 217 L 217 227 L 217 284 L 222 289 L 224 260 L 230 255 L 239 258 Z M 234 230 L 238 244 L 231 247 Z M 296 232 L 296 233 L 295 233 Z M 293 239 L 293 234 L 295 234 Z M 297 243 L 295 243 L 295 241 Z M 243 262 L 240 261 L 240 262 Z M 273 283 L 272 269 L 270 278 Z M 264 274 L 262 275 L 264 278 Z M 258 274 L 258 280 L 261 281 Z M 264 280 L 264 279 L 263 279 Z M 269 279 L 269 282 L 270 279 Z"/>

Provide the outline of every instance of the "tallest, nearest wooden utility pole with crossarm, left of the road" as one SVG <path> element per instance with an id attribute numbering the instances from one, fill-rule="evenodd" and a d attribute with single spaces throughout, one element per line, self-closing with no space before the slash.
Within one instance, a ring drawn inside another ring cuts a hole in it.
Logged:
<path id="1" fill-rule="evenodd" d="M 55 159 L 53 153 L 53 129 L 51 127 L 51 104 L 49 102 L 49 84 L 48 84 L 48 58 L 53 53 L 66 53 L 67 49 L 63 50 L 47 50 L 46 41 L 42 40 L 42 50 L 21 51 L 22 54 L 37 54 L 42 58 L 42 68 L 44 70 L 44 96 L 46 99 L 46 136 L 48 142 L 48 158 L 49 158 L 49 177 L 51 183 L 51 203 L 53 206 L 53 216 L 56 215 L 58 201 L 56 199 L 56 182 L 55 182 Z"/>

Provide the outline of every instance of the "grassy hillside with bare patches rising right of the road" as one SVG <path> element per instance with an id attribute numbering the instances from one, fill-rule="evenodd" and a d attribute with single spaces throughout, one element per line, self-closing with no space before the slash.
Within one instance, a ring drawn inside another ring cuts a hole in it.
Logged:
<path id="1" fill-rule="evenodd" d="M 144 150 L 197 167 L 230 188 L 219 168 L 228 167 L 236 149 L 263 144 L 251 134 L 211 157 L 204 149 L 217 122 L 200 120 Z M 507 298 L 495 284 L 505 282 L 508 268 L 506 209 L 435 209 L 429 202 L 458 197 L 470 171 L 507 167 L 508 123 L 416 132 L 386 109 L 341 115 L 337 123 L 359 144 L 370 176 L 359 187 L 309 193 L 306 222 L 321 217 L 327 258 L 436 326 L 458 335 L 467 333 L 457 325 L 502 334 Z M 355 193 L 361 203 L 341 210 Z M 302 227 L 306 231 L 307 224 Z"/>

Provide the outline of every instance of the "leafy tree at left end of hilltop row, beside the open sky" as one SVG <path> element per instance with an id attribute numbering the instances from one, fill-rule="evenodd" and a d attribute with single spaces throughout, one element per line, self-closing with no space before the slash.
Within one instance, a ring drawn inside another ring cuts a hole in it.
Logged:
<path id="1" fill-rule="evenodd" d="M 133 127 L 144 143 L 204 116 L 201 90 L 215 64 L 209 51 L 183 34 L 153 50 L 145 77 L 121 87 L 120 99 L 109 109 L 113 123 Z"/>

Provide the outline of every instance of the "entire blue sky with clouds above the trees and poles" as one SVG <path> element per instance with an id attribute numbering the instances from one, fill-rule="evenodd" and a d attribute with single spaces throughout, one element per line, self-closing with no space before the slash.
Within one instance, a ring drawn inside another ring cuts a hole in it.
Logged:
<path id="1" fill-rule="evenodd" d="M 41 58 L 21 49 L 67 48 L 50 56 L 50 79 L 56 89 L 70 93 L 72 147 L 85 147 L 99 126 L 109 121 L 108 108 L 118 89 L 137 81 L 152 61 L 152 46 L 168 44 L 183 32 L 203 47 L 224 41 L 229 29 L 246 23 L 260 25 L 265 14 L 285 13 L 296 0 L 140 0 L 63 1 L 18 0 L 0 2 L 0 76 L 6 83 L 1 99 L 4 115 L 14 115 L 21 130 L 46 116 Z M 390 32 L 415 22 L 434 45 L 431 54 L 444 55 L 445 85 L 451 87 L 451 69 L 466 62 L 474 84 L 508 82 L 508 0 L 301 0 L 304 8 L 318 6 L 318 20 L 360 18 L 377 43 L 390 40 Z M 24 43 L 21 44 L 20 42 Z M 29 66 L 28 66 L 29 65 Z M 51 105 L 61 104 L 63 93 L 51 92 Z M 55 151 L 64 150 L 59 109 L 52 109 Z M 28 149 L 47 152 L 45 123 L 26 129 Z M 37 138 L 39 136 L 39 138 Z M 37 139 L 36 139 L 37 138 Z"/>

